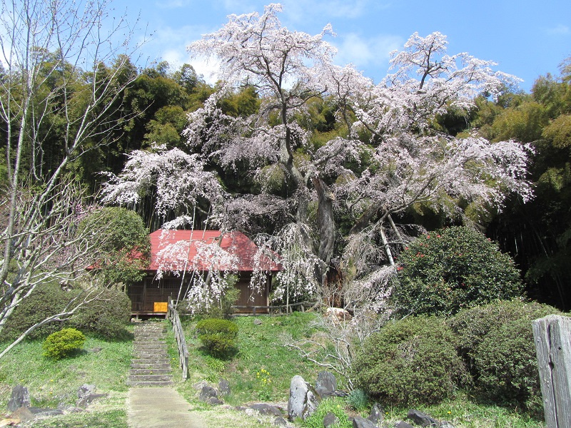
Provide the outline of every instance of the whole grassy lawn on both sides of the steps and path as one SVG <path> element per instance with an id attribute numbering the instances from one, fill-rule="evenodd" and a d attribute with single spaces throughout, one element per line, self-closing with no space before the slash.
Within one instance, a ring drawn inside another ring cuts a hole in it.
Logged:
<path id="1" fill-rule="evenodd" d="M 315 384 L 318 372 L 323 370 L 285 346 L 293 340 L 308 337 L 320 337 L 323 340 L 320 315 L 295 312 L 293 315 L 279 317 L 259 315 L 257 319 L 261 321 L 260 325 L 254 323 L 254 317 L 233 318 L 239 327 L 237 351 L 226 360 L 207 355 L 196 337 L 196 322 L 184 321 L 191 354 L 191 378 L 186 382 L 181 379 L 178 368 L 174 336 L 167 329 L 168 352 L 175 370 L 173 377 L 176 388 L 191 403 L 193 411 L 198 412 L 206 422 L 206 427 L 271 427 L 272 418 L 249 417 L 231 407 L 251 402 L 275 402 L 286 406 L 293 375 L 300 374 L 307 382 Z M 128 387 L 125 381 L 131 352 L 131 340 L 106 341 L 88 335 L 84 352 L 64 360 L 52 361 L 42 356 L 41 340 L 23 342 L 0 361 L 0 407 L 6 409 L 11 388 L 16 384 L 24 384 L 29 388 L 32 405 L 52 408 L 59 404 L 74 404 L 81 384 L 95 384 L 97 392 L 108 396 L 91 404 L 89 412 L 51 417 L 27 426 L 126 428 L 125 399 Z M 227 379 L 230 384 L 231 394 L 223 397 L 230 406 L 212 407 L 199 402 L 193 385 L 204 380 L 217 384 L 219 379 Z M 343 379 L 340 379 L 339 388 L 345 388 Z M 408 409 L 381 404 L 385 419 L 391 426 L 398 420 L 405 419 Z M 335 399 L 328 405 L 343 409 L 348 414 L 358 414 L 345 399 Z M 458 392 L 458 396 L 448 402 L 418 409 L 437 419 L 448 420 L 456 428 L 545 428 L 540 420 L 516 409 L 476 404 L 464 392 Z M 363 409 L 362 414 L 366 416 L 368 411 L 369 407 Z M 305 427 L 313 426 L 312 421 L 305 423 Z"/>

